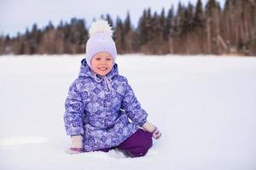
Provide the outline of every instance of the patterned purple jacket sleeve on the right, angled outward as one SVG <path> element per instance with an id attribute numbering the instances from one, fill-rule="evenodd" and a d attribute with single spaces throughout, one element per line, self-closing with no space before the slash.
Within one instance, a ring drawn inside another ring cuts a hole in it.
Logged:
<path id="1" fill-rule="evenodd" d="M 125 111 L 131 119 L 131 122 L 135 123 L 137 126 L 142 127 L 143 124 L 147 122 L 148 114 L 137 101 L 137 98 L 128 82 L 126 83 L 125 97 L 123 99 L 121 109 Z"/>

